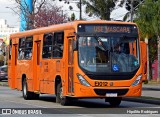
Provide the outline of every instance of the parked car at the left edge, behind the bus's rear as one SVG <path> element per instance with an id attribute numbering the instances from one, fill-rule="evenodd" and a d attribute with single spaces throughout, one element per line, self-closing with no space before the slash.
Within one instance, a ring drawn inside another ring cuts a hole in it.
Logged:
<path id="1" fill-rule="evenodd" d="M 8 80 L 8 68 L 7 65 L 0 67 L 0 81 Z"/>

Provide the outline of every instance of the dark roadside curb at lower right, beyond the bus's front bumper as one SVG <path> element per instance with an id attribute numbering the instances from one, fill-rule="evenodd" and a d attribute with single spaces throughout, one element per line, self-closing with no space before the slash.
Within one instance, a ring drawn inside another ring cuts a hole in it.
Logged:
<path id="1" fill-rule="evenodd" d="M 140 103 L 147 103 L 147 104 L 155 104 L 155 105 L 160 105 L 160 100 L 158 99 L 154 99 L 154 98 L 150 98 L 148 97 L 148 99 L 145 98 L 137 98 L 137 97 L 124 97 L 122 100 L 124 101 L 130 101 L 130 102 L 140 102 Z"/>

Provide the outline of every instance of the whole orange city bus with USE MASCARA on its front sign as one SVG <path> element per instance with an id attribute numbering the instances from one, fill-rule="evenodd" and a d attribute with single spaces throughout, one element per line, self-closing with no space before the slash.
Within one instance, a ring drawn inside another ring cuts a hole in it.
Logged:
<path id="1" fill-rule="evenodd" d="M 74 21 L 10 35 L 8 83 L 24 99 L 53 94 L 61 105 L 105 98 L 119 106 L 141 95 L 142 74 L 134 23 Z"/>

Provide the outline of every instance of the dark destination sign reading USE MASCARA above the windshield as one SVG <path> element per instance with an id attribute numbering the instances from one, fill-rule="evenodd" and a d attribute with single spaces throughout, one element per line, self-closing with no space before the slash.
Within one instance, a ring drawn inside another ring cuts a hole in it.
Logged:
<path id="1" fill-rule="evenodd" d="M 137 33 L 137 27 L 133 25 L 91 25 L 82 24 L 78 26 L 78 32 L 86 33 Z"/>

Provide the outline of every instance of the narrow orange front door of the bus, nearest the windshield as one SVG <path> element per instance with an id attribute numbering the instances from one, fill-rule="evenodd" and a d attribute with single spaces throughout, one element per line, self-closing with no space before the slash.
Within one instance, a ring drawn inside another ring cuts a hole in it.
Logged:
<path id="1" fill-rule="evenodd" d="M 73 44 L 74 38 L 68 38 L 68 93 L 69 95 L 74 95 L 74 67 L 73 67 Z"/>

